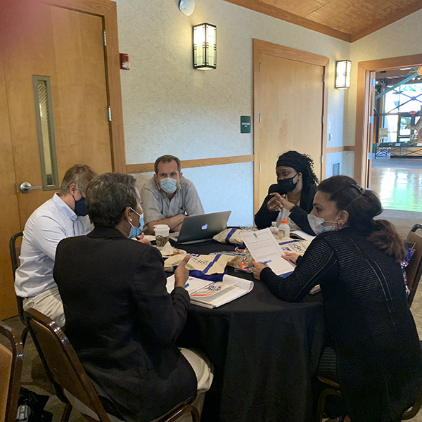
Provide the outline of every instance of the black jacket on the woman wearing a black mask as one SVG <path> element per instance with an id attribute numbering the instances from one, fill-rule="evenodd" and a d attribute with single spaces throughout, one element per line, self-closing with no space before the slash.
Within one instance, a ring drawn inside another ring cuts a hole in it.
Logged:
<path id="1" fill-rule="evenodd" d="M 276 192 L 277 188 L 277 184 L 269 186 L 268 195 L 265 197 L 260 210 L 255 214 L 255 224 L 258 229 L 265 229 L 265 227 L 271 226 L 271 222 L 275 222 L 279 215 L 279 211 L 271 212 L 267 208 L 268 201 L 273 197 L 270 193 Z M 315 234 L 311 229 L 311 226 L 309 226 L 307 215 L 312 210 L 315 193 L 316 185 L 311 184 L 306 187 L 304 186 L 300 193 L 300 205 L 295 205 L 289 215 L 290 219 L 295 222 L 295 224 L 298 224 L 301 230 L 312 235 Z"/>

